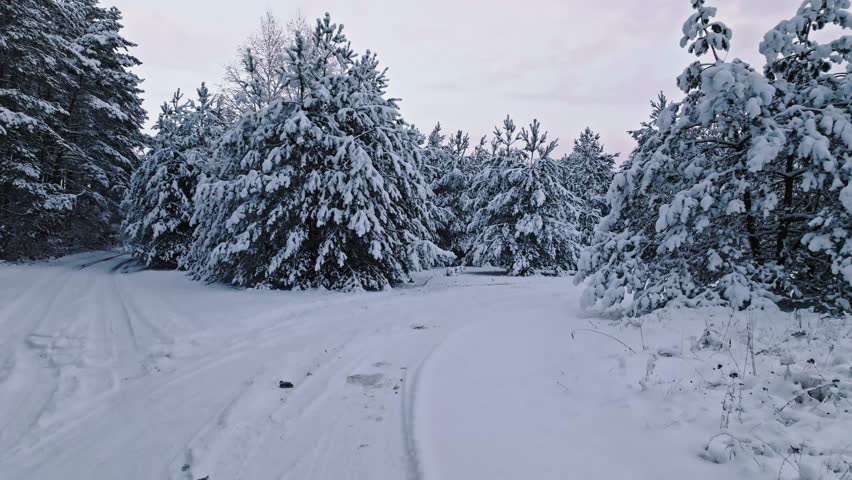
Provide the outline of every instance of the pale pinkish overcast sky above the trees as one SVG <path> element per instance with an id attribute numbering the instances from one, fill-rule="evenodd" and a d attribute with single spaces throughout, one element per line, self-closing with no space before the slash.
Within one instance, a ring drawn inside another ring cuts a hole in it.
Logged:
<path id="1" fill-rule="evenodd" d="M 406 119 L 428 131 L 489 133 L 506 114 L 542 121 L 562 150 L 590 126 L 629 153 L 648 102 L 691 61 L 678 47 L 689 0 L 103 0 L 139 44 L 146 107 L 176 88 L 218 84 L 223 66 L 269 9 L 282 19 L 328 11 L 356 51 L 389 69 Z M 801 0 L 715 0 L 734 31 L 732 57 L 761 67 L 763 34 Z"/>

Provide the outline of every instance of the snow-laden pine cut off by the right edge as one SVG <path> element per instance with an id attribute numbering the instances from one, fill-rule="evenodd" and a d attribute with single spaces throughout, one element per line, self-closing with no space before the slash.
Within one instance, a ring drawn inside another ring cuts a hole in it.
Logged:
<path id="1" fill-rule="evenodd" d="M 768 219 L 774 234 L 765 255 L 784 269 L 785 290 L 791 293 L 786 300 L 847 312 L 852 311 L 852 36 L 824 43 L 816 38 L 825 27 L 852 28 L 851 4 L 804 2 L 760 45 L 765 73 L 777 89 L 773 120 L 786 140 L 765 167 L 778 180 Z"/>

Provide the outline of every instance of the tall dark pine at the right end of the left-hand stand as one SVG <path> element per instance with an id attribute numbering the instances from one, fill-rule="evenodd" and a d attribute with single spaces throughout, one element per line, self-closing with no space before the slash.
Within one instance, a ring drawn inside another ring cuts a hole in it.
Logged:
<path id="1" fill-rule="evenodd" d="M 60 235 L 83 247 L 103 247 L 120 232 L 121 201 L 145 145 L 142 80 L 130 71 L 140 62 L 128 53 L 135 45 L 121 36 L 118 9 L 97 0 L 66 5 L 78 20 L 70 34 L 79 57 L 62 136 L 74 149 L 57 153 L 49 165 L 51 175 L 79 192 Z"/>

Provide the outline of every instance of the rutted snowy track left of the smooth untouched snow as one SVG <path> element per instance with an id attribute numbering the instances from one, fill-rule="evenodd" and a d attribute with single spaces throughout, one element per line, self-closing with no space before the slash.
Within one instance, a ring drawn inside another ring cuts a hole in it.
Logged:
<path id="1" fill-rule="evenodd" d="M 565 280 L 238 292 L 129 265 L 94 253 L 0 269 L 0 478 L 422 478 L 430 354 L 566 301 Z"/>

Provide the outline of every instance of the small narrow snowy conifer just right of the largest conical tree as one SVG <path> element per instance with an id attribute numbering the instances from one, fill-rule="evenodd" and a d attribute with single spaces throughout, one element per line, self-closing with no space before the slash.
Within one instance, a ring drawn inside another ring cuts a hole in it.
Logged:
<path id="1" fill-rule="evenodd" d="M 441 124 L 435 126 L 423 147 L 423 173 L 434 193 L 439 246 L 452 251 L 459 260 L 468 248 L 468 193 L 478 173 L 469 148 L 467 134 L 458 131 L 447 138 L 441 133 Z"/>

